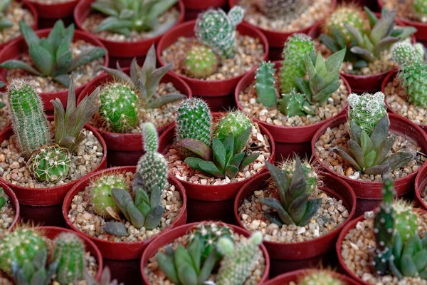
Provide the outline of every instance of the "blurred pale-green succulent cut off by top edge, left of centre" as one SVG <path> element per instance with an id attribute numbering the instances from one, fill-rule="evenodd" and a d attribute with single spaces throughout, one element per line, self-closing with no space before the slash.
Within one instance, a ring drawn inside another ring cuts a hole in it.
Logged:
<path id="1" fill-rule="evenodd" d="M 160 24 L 158 17 L 169 10 L 178 0 L 96 0 L 92 8 L 107 16 L 95 32 L 110 31 L 125 36 L 132 31 L 150 32 L 154 37 L 174 26 L 176 19 Z"/>

